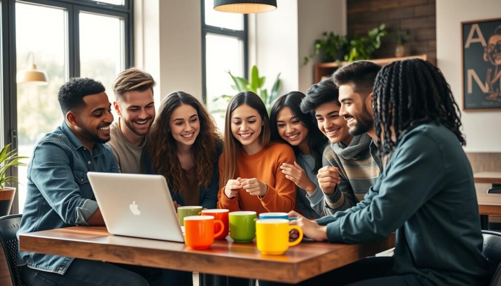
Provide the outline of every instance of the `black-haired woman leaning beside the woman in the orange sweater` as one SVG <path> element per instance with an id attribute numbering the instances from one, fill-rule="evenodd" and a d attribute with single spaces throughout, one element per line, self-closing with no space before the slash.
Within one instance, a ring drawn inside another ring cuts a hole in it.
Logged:
<path id="1" fill-rule="evenodd" d="M 286 178 L 298 186 L 296 209 L 306 217 L 318 218 L 324 211 L 323 205 L 313 206 L 310 201 L 324 198 L 317 173 L 322 167 L 327 138 L 318 129 L 313 116 L 301 111 L 303 98 L 305 95 L 299 91 L 278 98 L 270 114 L 270 130 L 273 140 L 291 145 L 296 154 L 297 162 L 280 166 Z"/>

